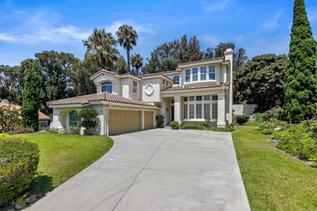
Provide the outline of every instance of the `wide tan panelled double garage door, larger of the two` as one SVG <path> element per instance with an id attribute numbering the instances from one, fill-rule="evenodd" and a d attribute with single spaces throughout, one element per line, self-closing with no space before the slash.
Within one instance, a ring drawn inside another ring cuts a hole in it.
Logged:
<path id="1" fill-rule="evenodd" d="M 109 135 L 140 130 L 140 111 L 109 110 Z"/>

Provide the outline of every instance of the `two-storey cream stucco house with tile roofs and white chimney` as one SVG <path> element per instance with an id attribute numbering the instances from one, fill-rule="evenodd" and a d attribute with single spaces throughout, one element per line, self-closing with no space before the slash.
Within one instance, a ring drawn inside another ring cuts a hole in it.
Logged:
<path id="1" fill-rule="evenodd" d="M 60 132 L 81 119 L 78 111 L 93 108 L 98 113 L 97 127 L 87 132 L 112 135 L 156 126 L 157 115 L 165 125 L 210 123 L 225 127 L 232 122 L 232 56 L 178 64 L 176 70 L 133 76 L 100 70 L 90 77 L 97 93 L 47 102 L 53 108 L 53 122 Z"/>

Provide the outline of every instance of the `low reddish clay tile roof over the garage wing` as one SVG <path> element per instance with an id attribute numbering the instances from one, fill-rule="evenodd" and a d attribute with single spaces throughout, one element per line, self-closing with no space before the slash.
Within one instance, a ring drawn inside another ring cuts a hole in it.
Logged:
<path id="1" fill-rule="evenodd" d="M 127 103 L 127 104 L 133 104 L 133 105 L 141 105 L 141 106 L 153 106 L 158 107 L 156 105 L 152 105 L 150 103 L 141 101 L 141 100 L 132 100 L 126 97 L 122 97 L 116 94 L 110 94 L 107 92 L 101 92 L 97 94 L 92 95 L 85 95 L 85 96 L 78 96 L 78 97 L 72 97 L 67 98 L 63 100 L 55 100 L 47 102 L 46 104 L 48 106 L 50 105 L 69 105 L 69 104 L 88 104 L 89 102 L 93 101 L 108 101 L 108 102 L 120 102 L 120 103 Z"/>

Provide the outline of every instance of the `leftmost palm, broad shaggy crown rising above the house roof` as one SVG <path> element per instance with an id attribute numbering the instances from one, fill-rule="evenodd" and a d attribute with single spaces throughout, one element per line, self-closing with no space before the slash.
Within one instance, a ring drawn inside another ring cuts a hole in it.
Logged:
<path id="1" fill-rule="evenodd" d="M 88 40 L 82 40 L 87 47 L 87 53 L 93 55 L 94 62 L 98 62 L 100 68 L 110 67 L 118 59 L 119 50 L 116 48 L 117 40 L 105 29 L 94 29 L 94 33 Z"/>

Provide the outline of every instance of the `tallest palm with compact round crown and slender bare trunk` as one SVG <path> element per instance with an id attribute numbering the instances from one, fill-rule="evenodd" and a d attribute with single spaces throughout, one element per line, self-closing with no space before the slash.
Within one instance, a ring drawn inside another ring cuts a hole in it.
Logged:
<path id="1" fill-rule="evenodd" d="M 119 27 L 119 31 L 116 32 L 118 37 L 118 42 L 120 46 L 126 49 L 126 58 L 128 60 L 128 72 L 130 72 L 130 50 L 133 49 L 133 46 L 137 45 L 137 40 L 139 38 L 137 32 L 132 28 L 132 26 L 128 26 L 124 24 Z"/>

